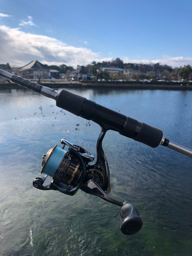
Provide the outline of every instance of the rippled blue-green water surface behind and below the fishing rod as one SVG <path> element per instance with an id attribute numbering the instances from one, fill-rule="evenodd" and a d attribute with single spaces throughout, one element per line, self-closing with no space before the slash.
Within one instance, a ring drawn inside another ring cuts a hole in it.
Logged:
<path id="1" fill-rule="evenodd" d="M 70 90 L 75 92 L 75 90 Z M 192 147 L 191 91 L 76 90 L 167 139 Z M 41 156 L 66 138 L 96 156 L 100 127 L 27 90 L 0 91 L 0 255 L 190 255 L 192 159 L 109 131 L 103 149 L 112 193 L 139 210 L 134 236 L 120 229 L 119 207 L 79 190 L 74 197 L 32 186 Z M 79 124 L 79 125 L 77 125 Z"/>

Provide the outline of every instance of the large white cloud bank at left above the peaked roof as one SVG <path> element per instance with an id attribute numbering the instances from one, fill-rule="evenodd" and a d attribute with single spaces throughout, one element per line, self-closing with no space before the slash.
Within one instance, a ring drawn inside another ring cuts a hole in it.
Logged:
<path id="1" fill-rule="evenodd" d="M 25 33 L 19 28 L 0 26 L 0 52 L 1 62 L 9 62 L 11 66 L 22 67 L 30 61 L 37 59 L 48 65 L 68 66 L 88 65 L 100 59 L 97 53 L 82 47 L 67 45 L 56 38 Z"/>

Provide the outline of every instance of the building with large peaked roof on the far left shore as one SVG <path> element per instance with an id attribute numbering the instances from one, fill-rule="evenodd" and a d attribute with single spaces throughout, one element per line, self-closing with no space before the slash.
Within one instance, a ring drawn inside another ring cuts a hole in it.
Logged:
<path id="1" fill-rule="evenodd" d="M 30 80 L 59 79 L 57 70 L 49 69 L 47 65 L 43 65 L 37 60 L 32 60 L 27 65 L 17 69 L 17 73 Z"/>

